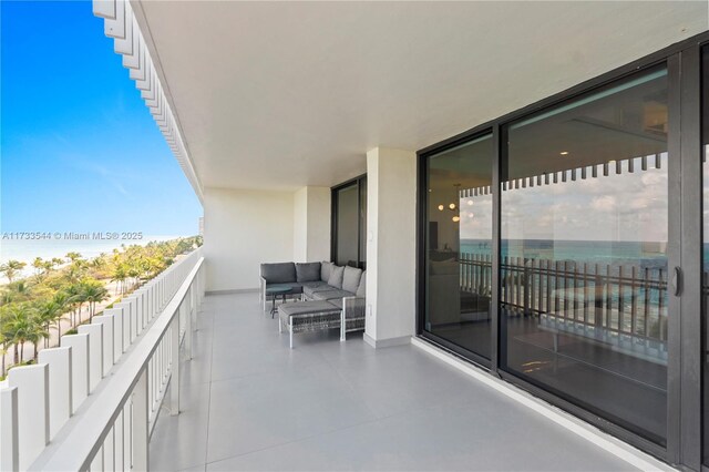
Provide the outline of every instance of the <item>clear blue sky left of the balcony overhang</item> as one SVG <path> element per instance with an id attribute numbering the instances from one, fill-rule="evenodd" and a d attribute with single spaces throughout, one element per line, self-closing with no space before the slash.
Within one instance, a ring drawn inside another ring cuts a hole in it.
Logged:
<path id="1" fill-rule="evenodd" d="M 196 234 L 199 201 L 91 2 L 0 8 L 0 232 Z"/>

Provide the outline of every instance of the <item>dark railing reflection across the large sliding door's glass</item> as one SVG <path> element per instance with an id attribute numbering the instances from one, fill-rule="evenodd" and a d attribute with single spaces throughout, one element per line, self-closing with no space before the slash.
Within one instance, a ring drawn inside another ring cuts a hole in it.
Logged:
<path id="1" fill-rule="evenodd" d="M 463 253 L 460 264 L 463 291 L 490 293 L 490 255 Z M 667 359 L 666 268 L 504 257 L 501 270 L 508 317 Z"/>

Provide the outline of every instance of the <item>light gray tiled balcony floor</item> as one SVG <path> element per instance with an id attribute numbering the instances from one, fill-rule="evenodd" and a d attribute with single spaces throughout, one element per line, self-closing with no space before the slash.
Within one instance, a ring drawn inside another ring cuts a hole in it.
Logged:
<path id="1" fill-rule="evenodd" d="M 633 469 L 412 345 L 331 330 L 290 350 L 256 294 L 207 296 L 197 322 L 152 470 Z"/>

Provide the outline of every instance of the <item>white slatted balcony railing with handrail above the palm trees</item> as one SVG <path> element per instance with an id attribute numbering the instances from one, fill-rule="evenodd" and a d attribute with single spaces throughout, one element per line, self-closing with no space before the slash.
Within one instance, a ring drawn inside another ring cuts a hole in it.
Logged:
<path id="1" fill-rule="evenodd" d="M 0 382 L 0 470 L 147 470 L 148 442 L 169 389 L 179 412 L 181 349 L 204 297 L 197 249 L 39 362 Z"/>

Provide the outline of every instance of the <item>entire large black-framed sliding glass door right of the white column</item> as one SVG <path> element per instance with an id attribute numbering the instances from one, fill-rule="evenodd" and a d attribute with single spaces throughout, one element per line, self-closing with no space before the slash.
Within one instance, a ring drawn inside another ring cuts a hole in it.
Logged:
<path id="1" fill-rule="evenodd" d="M 419 156 L 419 335 L 709 470 L 709 32 Z"/>

